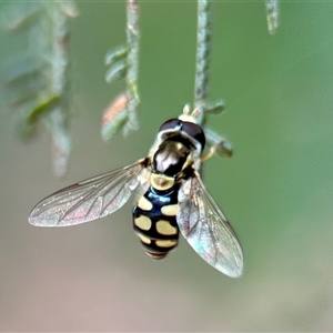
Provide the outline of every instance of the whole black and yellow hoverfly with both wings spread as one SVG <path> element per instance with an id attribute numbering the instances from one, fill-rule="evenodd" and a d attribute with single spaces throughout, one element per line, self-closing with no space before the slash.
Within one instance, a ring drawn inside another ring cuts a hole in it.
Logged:
<path id="1" fill-rule="evenodd" d="M 181 231 L 204 261 L 231 278 L 240 276 L 241 245 L 199 174 L 205 135 L 195 114 L 184 108 L 178 119 L 161 125 L 145 159 L 56 192 L 36 205 L 29 222 L 68 226 L 101 219 L 135 190 L 140 195 L 133 228 L 148 255 L 165 258 Z"/>

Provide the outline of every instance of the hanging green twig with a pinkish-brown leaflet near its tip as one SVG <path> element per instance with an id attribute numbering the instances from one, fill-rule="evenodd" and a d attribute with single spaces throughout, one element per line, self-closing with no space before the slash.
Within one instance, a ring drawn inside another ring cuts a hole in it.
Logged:
<path id="1" fill-rule="evenodd" d="M 137 109 L 140 103 L 138 92 L 139 67 L 139 7 L 137 0 L 127 2 L 127 44 L 112 49 L 105 57 L 110 69 L 105 74 L 109 83 L 125 79 L 125 91 L 117 97 L 102 115 L 101 135 L 109 141 L 119 130 L 123 135 L 139 129 Z"/>

